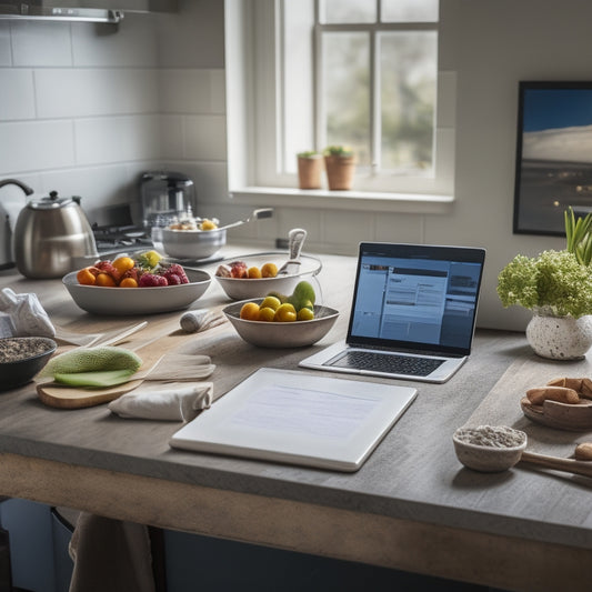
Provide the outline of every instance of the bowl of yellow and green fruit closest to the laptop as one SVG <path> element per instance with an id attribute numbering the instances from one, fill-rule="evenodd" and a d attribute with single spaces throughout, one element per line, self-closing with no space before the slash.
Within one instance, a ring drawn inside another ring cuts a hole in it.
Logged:
<path id="1" fill-rule="evenodd" d="M 301 280 L 289 297 L 272 292 L 229 304 L 223 312 L 252 345 L 303 348 L 324 338 L 339 317 L 339 311 L 314 300 L 312 285 Z"/>

